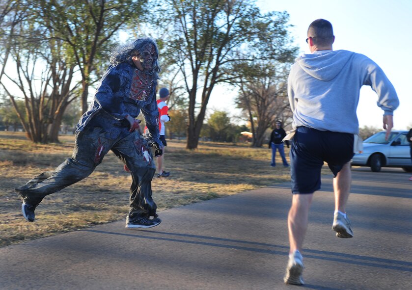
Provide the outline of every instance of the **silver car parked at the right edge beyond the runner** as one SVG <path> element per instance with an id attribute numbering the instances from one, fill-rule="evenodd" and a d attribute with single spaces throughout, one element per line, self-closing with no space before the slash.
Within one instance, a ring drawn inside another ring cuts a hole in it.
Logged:
<path id="1" fill-rule="evenodd" d="M 373 172 L 382 167 L 401 167 L 412 172 L 411 147 L 408 131 L 392 131 L 385 140 L 386 132 L 378 132 L 363 141 L 363 150 L 352 158 L 352 165 L 368 166 Z"/>

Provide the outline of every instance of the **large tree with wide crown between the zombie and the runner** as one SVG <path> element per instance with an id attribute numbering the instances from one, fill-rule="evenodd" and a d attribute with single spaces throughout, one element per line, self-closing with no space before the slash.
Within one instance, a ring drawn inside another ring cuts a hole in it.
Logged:
<path id="1" fill-rule="evenodd" d="M 238 62 L 282 60 L 289 48 L 286 13 L 260 13 L 249 0 L 165 0 L 159 23 L 168 57 L 183 75 L 189 99 L 187 148 L 194 149 L 215 86 L 239 77 Z"/>

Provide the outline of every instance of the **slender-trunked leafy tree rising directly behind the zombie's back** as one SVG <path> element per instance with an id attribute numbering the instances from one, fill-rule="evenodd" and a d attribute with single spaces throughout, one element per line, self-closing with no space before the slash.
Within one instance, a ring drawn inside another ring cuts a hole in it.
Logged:
<path id="1" fill-rule="evenodd" d="M 146 13 L 146 0 L 33 0 L 39 25 L 53 31 L 65 44 L 66 57 L 80 68 L 82 112 L 88 107 L 88 89 L 98 78 L 99 65 L 108 66 L 108 52 L 115 33 L 128 25 L 136 27 Z M 100 70 L 102 68 L 100 67 Z"/>

